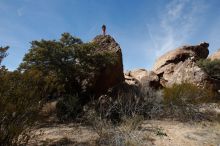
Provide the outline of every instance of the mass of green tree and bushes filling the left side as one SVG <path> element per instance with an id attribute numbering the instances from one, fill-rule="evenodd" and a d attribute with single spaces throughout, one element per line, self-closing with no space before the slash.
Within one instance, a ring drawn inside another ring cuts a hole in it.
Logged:
<path id="1" fill-rule="evenodd" d="M 58 41 L 33 41 L 18 70 L 0 66 L 0 145 L 16 145 L 45 99 L 62 99 L 57 104 L 60 120 L 77 116 L 95 76 L 115 63 L 113 54 L 96 52 L 97 47 L 64 33 Z M 0 65 L 7 50 L 0 47 Z"/>

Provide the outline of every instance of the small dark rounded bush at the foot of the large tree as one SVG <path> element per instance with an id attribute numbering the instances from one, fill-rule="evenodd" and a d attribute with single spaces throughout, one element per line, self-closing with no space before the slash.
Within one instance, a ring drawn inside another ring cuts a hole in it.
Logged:
<path id="1" fill-rule="evenodd" d="M 75 119 L 81 109 L 78 95 L 65 95 L 58 101 L 56 109 L 60 121 Z"/>

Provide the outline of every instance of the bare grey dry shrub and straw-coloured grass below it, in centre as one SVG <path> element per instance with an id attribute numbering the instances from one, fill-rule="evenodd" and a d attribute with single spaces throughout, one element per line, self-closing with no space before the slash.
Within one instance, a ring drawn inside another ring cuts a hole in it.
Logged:
<path id="1" fill-rule="evenodd" d="M 125 85 L 84 106 L 84 116 L 99 135 L 97 145 L 148 145 L 140 133 L 144 119 L 161 113 L 162 92 Z M 88 123 L 87 123 L 88 124 Z"/>

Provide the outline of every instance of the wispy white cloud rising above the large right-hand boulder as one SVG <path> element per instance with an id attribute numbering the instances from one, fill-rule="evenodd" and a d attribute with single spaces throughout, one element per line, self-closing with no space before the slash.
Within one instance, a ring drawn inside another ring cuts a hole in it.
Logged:
<path id="1" fill-rule="evenodd" d="M 156 57 L 183 45 L 197 29 L 200 14 L 205 9 L 202 0 L 173 0 L 159 14 L 159 24 L 148 27 L 155 42 Z M 153 35 L 152 35 L 153 34 Z"/>

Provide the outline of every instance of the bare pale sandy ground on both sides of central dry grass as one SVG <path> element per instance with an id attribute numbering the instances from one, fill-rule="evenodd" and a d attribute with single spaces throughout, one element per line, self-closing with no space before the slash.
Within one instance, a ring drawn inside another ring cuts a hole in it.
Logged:
<path id="1" fill-rule="evenodd" d="M 122 130 L 123 131 L 123 130 Z M 126 133 L 132 145 L 219 146 L 220 123 L 181 123 L 143 121 L 138 129 Z M 32 131 L 28 145 L 97 145 L 99 135 L 92 127 L 77 124 L 44 125 Z M 119 144 L 120 145 L 120 144 Z"/>

